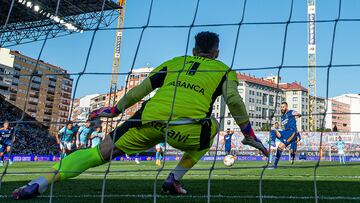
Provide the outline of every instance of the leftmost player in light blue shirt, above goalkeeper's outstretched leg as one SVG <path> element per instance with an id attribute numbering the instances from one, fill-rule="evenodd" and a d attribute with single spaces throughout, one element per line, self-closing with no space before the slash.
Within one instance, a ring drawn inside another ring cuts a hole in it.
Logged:
<path id="1" fill-rule="evenodd" d="M 71 153 L 74 144 L 75 132 L 73 131 L 73 124 L 70 122 L 66 127 L 61 128 L 56 136 L 58 144 L 60 144 L 61 158 L 65 158 Z"/>

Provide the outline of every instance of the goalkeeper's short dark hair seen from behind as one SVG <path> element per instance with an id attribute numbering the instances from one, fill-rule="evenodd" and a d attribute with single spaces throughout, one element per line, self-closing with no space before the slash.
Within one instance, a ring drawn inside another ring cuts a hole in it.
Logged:
<path id="1" fill-rule="evenodd" d="M 195 36 L 195 48 L 202 53 L 210 53 L 219 47 L 219 35 L 213 32 L 199 32 Z"/>

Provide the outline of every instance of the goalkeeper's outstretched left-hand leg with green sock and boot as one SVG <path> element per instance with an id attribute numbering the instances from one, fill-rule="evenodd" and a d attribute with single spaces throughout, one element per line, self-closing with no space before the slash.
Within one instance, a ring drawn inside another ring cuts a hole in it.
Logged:
<path id="1" fill-rule="evenodd" d="M 45 192 L 51 182 L 76 177 L 89 168 L 108 162 L 112 148 L 114 148 L 114 143 L 110 136 L 106 136 L 105 140 L 98 147 L 77 150 L 62 159 L 61 162 L 56 163 L 48 174 L 40 176 L 30 181 L 27 185 L 16 189 L 13 192 L 13 198 L 34 198 Z M 121 153 L 121 150 L 114 148 L 113 156 Z"/>

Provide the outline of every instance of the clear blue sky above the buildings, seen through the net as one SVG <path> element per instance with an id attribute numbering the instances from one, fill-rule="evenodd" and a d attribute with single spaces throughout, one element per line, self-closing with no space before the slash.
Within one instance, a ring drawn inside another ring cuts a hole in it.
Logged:
<path id="1" fill-rule="evenodd" d="M 284 22 L 289 17 L 290 0 L 248 0 L 244 23 Z M 338 0 L 317 0 L 317 20 L 333 20 L 338 13 Z M 125 26 L 142 26 L 147 21 L 150 0 L 128 0 Z M 195 0 L 154 0 L 150 25 L 190 25 L 194 16 Z M 237 23 L 243 14 L 242 0 L 201 0 L 195 24 Z M 341 18 L 360 19 L 360 1 L 343 0 Z M 306 21 L 306 0 L 294 0 L 291 21 Z M 112 25 L 111 27 L 115 27 Z M 285 25 L 242 25 L 239 41 L 235 44 L 237 26 L 195 27 L 191 30 L 188 54 L 194 44 L 193 37 L 199 31 L 210 30 L 220 34 L 220 57 L 230 65 L 236 46 L 234 69 L 255 67 L 276 67 L 281 64 Z M 334 23 L 317 23 L 317 64 L 329 65 Z M 120 72 L 127 72 L 135 57 L 141 29 L 125 30 L 121 47 Z M 165 60 L 184 55 L 188 28 L 147 28 L 136 56 L 134 68 L 147 65 L 156 67 Z M 85 63 L 92 31 L 48 40 L 42 60 L 67 69 L 70 73 L 80 72 Z M 98 31 L 95 36 L 91 57 L 86 72 L 111 72 L 114 30 Z M 42 42 L 35 42 L 11 49 L 25 55 L 37 57 Z M 332 64 L 360 64 L 360 21 L 337 25 Z M 288 26 L 284 65 L 307 65 L 307 24 L 291 23 Z M 257 77 L 276 75 L 277 70 L 242 71 Z M 299 81 L 307 86 L 307 69 L 282 69 L 283 82 Z M 360 67 L 331 68 L 329 96 L 344 93 L 360 93 Z M 73 76 L 74 81 L 77 76 Z M 76 97 L 104 93 L 110 85 L 110 75 L 83 75 L 80 78 Z M 326 69 L 318 68 L 317 93 L 326 96 Z M 124 77 L 120 77 L 124 85 Z"/>

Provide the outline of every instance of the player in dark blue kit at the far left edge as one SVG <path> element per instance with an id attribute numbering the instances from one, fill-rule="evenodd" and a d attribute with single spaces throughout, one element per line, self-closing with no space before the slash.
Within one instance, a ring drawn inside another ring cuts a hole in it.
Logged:
<path id="1" fill-rule="evenodd" d="M 4 165 L 4 156 L 6 153 L 9 154 L 13 139 L 15 141 L 14 129 L 10 127 L 9 121 L 4 121 L 3 127 L 0 128 L 0 166 Z M 11 157 L 9 164 L 12 164 Z"/>

